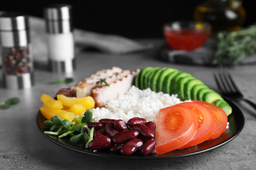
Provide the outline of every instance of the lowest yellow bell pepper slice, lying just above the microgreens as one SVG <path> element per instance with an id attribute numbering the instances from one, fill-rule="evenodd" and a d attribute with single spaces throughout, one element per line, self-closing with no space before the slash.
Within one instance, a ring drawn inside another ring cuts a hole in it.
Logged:
<path id="1" fill-rule="evenodd" d="M 75 114 L 73 112 L 67 112 L 66 110 L 62 109 L 54 109 L 53 107 L 49 107 L 47 105 L 42 105 L 40 107 L 40 111 L 47 120 L 51 120 L 53 116 L 59 116 L 65 120 L 72 122 L 75 118 Z"/>

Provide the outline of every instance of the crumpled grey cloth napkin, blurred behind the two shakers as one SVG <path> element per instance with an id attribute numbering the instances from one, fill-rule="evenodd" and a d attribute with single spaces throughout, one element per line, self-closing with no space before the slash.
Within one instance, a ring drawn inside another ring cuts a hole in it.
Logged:
<path id="1" fill-rule="evenodd" d="M 45 21 L 42 18 L 33 16 L 30 16 L 29 19 L 33 60 L 35 62 L 47 62 Z M 116 55 L 150 50 L 152 48 L 152 44 L 140 44 L 119 35 L 104 35 L 81 29 L 74 29 L 74 42 L 76 52 L 79 52 L 81 48 L 90 47 Z"/>

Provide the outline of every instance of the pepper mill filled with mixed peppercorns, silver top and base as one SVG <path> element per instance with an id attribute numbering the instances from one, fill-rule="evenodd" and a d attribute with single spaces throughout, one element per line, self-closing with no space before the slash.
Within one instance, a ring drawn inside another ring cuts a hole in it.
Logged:
<path id="1" fill-rule="evenodd" d="M 28 89 L 33 86 L 33 61 L 28 16 L 14 12 L 0 15 L 3 86 Z"/>

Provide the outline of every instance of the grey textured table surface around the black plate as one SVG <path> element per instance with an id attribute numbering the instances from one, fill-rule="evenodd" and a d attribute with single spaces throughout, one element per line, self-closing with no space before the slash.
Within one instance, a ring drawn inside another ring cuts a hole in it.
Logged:
<path id="1" fill-rule="evenodd" d="M 144 40 L 154 44 L 150 52 L 112 55 L 102 52 L 77 54 L 77 69 L 72 74 L 75 82 L 100 69 L 113 66 L 122 69 L 144 67 L 173 67 L 200 78 L 209 88 L 217 89 L 213 67 L 167 63 L 158 59 L 158 49 L 163 40 Z M 232 67 L 232 76 L 245 96 L 256 103 L 256 65 Z M 21 101 L 10 109 L 0 110 L 0 169 L 254 169 L 256 166 L 256 111 L 246 103 L 237 103 L 245 116 L 245 126 L 240 135 L 224 146 L 177 159 L 160 161 L 129 161 L 89 156 L 58 146 L 46 139 L 37 128 L 36 116 L 42 105 L 43 93 L 55 95 L 60 88 L 70 84 L 53 84 L 57 75 L 47 71 L 47 65 L 35 66 L 35 85 L 30 90 L 7 90 L 0 86 L 0 101 L 20 97 Z"/>

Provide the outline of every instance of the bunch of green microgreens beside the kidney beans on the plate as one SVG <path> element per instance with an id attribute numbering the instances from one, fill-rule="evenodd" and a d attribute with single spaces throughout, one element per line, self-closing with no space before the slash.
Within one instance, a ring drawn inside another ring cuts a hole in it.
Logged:
<path id="1" fill-rule="evenodd" d="M 93 140 L 94 128 L 92 128 L 90 134 L 88 134 L 85 126 L 92 121 L 92 110 L 86 110 L 83 116 L 75 118 L 72 122 L 64 120 L 58 116 L 53 116 L 51 120 L 45 120 L 45 122 L 43 122 L 45 127 L 49 129 L 49 131 L 44 131 L 44 133 L 48 135 L 57 135 L 58 138 L 70 136 L 70 143 L 72 144 L 89 144 L 89 142 Z"/>

